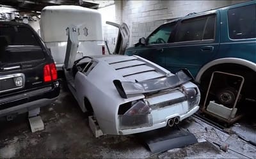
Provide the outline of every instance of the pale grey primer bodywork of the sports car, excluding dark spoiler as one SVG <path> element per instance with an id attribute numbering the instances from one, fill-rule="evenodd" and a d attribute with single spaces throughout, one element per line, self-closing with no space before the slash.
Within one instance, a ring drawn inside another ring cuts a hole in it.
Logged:
<path id="1" fill-rule="evenodd" d="M 135 57 L 135 58 L 134 58 Z M 166 106 L 160 109 L 154 109 L 150 114 L 152 115 L 152 126 L 134 128 L 127 130 L 119 129 L 118 121 L 118 108 L 122 103 L 132 102 L 134 100 L 139 100 L 145 98 L 143 94 L 129 95 L 128 98 L 122 98 L 116 87 L 113 84 L 113 80 L 120 81 L 134 81 L 134 79 L 129 79 L 122 76 L 122 73 L 115 70 L 116 64 L 113 66 L 109 63 L 119 59 L 120 61 L 136 59 L 146 63 L 147 66 L 152 66 L 157 70 L 157 73 L 163 75 L 173 75 L 162 69 L 154 63 L 148 63 L 145 59 L 137 56 L 102 56 L 93 59 L 97 64 L 94 66 L 93 70 L 85 75 L 82 72 L 77 72 L 74 79 L 75 90 L 72 91 L 73 95 L 76 96 L 76 100 L 79 106 L 86 111 L 84 106 L 84 97 L 88 98 L 93 107 L 94 116 L 97 118 L 100 129 L 103 133 L 113 134 L 113 135 L 127 135 L 131 133 L 145 132 L 148 130 L 154 130 L 156 128 L 161 128 L 167 125 L 168 119 L 172 117 L 180 117 L 180 121 L 186 117 L 191 116 L 198 110 L 198 105 L 195 105 L 193 109 L 189 110 L 188 102 L 180 102 L 170 106 Z M 185 88 L 195 88 L 198 91 L 198 87 L 192 82 L 186 82 L 182 85 Z M 157 94 L 156 94 L 157 96 Z M 170 95 L 172 98 L 179 98 L 184 96 L 180 91 L 171 91 Z M 171 98 L 170 97 L 170 98 Z M 166 97 L 167 98 L 167 97 Z M 159 99 L 157 99 L 159 100 Z M 154 102 L 154 101 L 152 101 Z"/>

